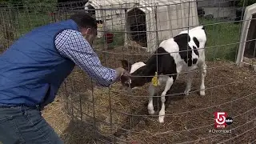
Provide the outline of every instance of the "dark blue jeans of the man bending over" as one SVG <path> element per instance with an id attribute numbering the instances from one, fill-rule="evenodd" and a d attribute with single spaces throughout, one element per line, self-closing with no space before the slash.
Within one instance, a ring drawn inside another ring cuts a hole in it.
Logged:
<path id="1" fill-rule="evenodd" d="M 42 118 L 41 111 L 26 106 L 0 106 L 0 143 L 63 143 Z"/>

